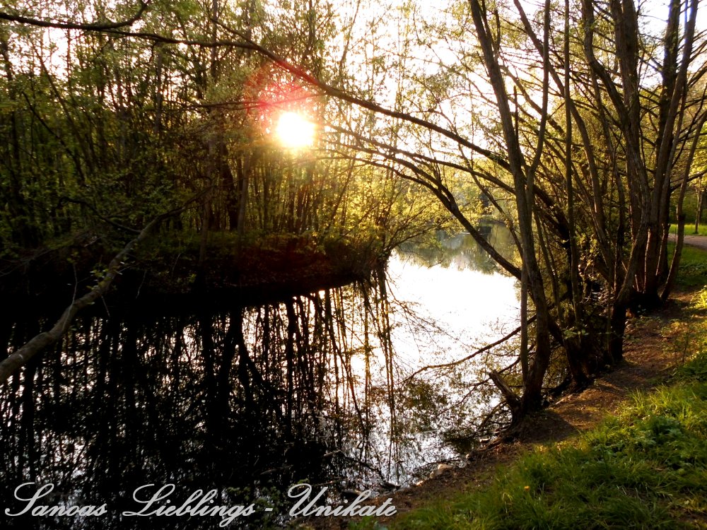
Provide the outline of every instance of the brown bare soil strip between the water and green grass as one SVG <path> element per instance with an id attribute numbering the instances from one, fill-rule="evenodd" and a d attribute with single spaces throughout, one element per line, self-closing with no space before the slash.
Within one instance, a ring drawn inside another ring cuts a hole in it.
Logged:
<path id="1" fill-rule="evenodd" d="M 692 238 L 697 240 L 693 242 Z M 685 242 L 707 249 L 707 237 L 686 237 Z M 674 293 L 659 312 L 632 319 L 626 329 L 624 361 L 611 372 L 597 377 L 583 391 L 560 396 L 530 418 L 527 422 L 530 427 L 513 442 L 493 440 L 474 453 L 464 467 L 445 469 L 412 488 L 385 493 L 375 504 L 380 505 L 380 499 L 391 497 L 397 514 L 402 514 L 433 500 L 455 497 L 464 490 L 483 488 L 491 482 L 499 464 L 510 463 L 538 444 L 554 444 L 590 430 L 607 415 L 617 412 L 634 392 L 647 391 L 665 382 L 684 360 L 675 340 L 680 334 L 679 326 L 671 324 L 689 320 L 688 306 L 693 295 L 694 291 Z M 387 520 L 378 519 L 383 526 Z M 300 527 L 346 529 L 348 525 L 349 519 L 343 517 L 322 517 L 309 519 Z"/>

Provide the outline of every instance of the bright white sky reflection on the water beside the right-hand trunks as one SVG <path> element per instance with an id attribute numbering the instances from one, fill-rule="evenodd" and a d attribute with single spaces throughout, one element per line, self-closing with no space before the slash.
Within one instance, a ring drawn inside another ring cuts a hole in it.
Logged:
<path id="1" fill-rule="evenodd" d="M 487 237 L 513 257 L 502 226 L 489 225 Z M 518 286 L 465 234 L 405 245 L 390 259 L 388 276 L 395 360 L 399 380 L 407 382 L 400 389 L 407 408 L 398 420 L 409 425 L 401 450 L 409 449 L 404 462 L 410 481 L 494 430 L 493 423 L 481 425 L 499 403 L 486 373 L 515 358 L 516 342 L 477 352 L 518 326 Z"/>

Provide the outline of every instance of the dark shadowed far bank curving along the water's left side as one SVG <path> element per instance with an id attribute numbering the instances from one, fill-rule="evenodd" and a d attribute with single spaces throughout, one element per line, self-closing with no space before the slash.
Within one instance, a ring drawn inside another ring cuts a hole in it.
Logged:
<path id="1" fill-rule="evenodd" d="M 90 233 L 0 261 L 0 297 L 11 312 L 61 311 L 93 288 L 124 242 Z M 258 305 L 368 278 L 385 264 L 375 240 L 272 234 L 210 235 L 203 257 L 197 237 L 161 234 L 126 260 L 106 303 L 129 312 L 190 312 L 194 307 Z"/>

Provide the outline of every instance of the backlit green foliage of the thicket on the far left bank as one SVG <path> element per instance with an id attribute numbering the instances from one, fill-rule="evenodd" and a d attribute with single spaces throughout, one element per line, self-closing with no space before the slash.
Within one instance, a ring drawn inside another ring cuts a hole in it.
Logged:
<path id="1" fill-rule="evenodd" d="M 226 39 L 224 28 L 258 33 L 274 52 L 324 78 L 334 75 L 322 68 L 329 58 L 324 43 L 336 32 L 328 4 L 214 6 L 220 26 L 210 21 L 213 6 L 153 2 L 141 30 L 169 28 L 189 42 Z M 35 18 L 119 20 L 129 6 L 28 9 Z M 47 39 L 53 44 L 42 47 Z M 382 168 L 321 157 L 320 146 L 288 151 L 271 139 L 284 108 L 320 124 L 330 111 L 303 83 L 252 52 L 5 21 L 0 47 L 0 258 L 57 248 L 82 232 L 120 247 L 124 228 L 139 230 L 205 190 L 204 203 L 171 220 L 154 252 L 144 255 L 144 263 L 171 263 L 189 242 L 191 270 L 173 278 L 180 285 L 192 283 L 203 266 L 202 240 L 221 245 L 223 254 L 236 249 L 228 242 L 243 248 L 267 245 L 273 235 L 303 236 L 312 249 L 350 244 L 357 254 L 368 246 L 369 258 L 378 259 L 443 222 L 436 201 Z M 176 252 L 156 257 L 165 247 Z"/>

